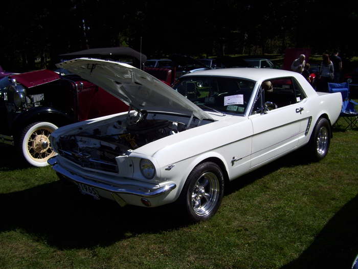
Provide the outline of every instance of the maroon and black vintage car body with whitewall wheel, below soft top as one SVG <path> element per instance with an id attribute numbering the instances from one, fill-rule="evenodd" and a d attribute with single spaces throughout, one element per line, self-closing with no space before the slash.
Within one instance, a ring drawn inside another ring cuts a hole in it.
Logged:
<path id="1" fill-rule="evenodd" d="M 0 142 L 14 145 L 27 163 L 41 167 L 54 156 L 49 136 L 58 127 L 126 111 L 113 95 L 76 75 L 51 70 L 0 80 Z"/>

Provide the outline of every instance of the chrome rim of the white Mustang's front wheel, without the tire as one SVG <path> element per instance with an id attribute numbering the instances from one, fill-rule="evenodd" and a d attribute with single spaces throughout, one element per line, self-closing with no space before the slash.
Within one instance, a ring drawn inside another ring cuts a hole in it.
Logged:
<path id="1" fill-rule="evenodd" d="M 217 176 L 206 172 L 195 182 L 191 192 L 192 210 L 198 216 L 210 215 L 220 196 L 220 184 Z"/>

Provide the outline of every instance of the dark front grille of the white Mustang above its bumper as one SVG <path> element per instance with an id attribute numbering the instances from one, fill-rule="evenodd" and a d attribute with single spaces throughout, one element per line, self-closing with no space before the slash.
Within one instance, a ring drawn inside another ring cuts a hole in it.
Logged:
<path id="1" fill-rule="evenodd" d="M 89 154 L 68 152 L 68 151 L 64 151 L 64 150 L 59 150 L 59 154 L 62 157 L 80 165 L 81 167 L 91 168 L 91 169 L 95 169 L 95 170 L 101 170 L 101 171 L 109 172 L 109 173 L 118 173 L 118 165 L 115 162 L 94 159 L 94 158 L 91 158 L 91 156 Z M 108 157 L 107 155 L 108 155 L 108 153 L 104 152 L 104 151 L 99 153 L 99 156 Z M 110 156 L 110 157 L 112 157 L 114 159 L 115 156 Z"/>

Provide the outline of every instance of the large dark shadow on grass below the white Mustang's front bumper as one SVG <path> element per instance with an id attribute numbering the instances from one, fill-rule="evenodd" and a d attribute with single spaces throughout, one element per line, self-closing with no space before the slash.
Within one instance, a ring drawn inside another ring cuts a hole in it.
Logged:
<path id="1" fill-rule="evenodd" d="M 119 207 L 82 195 L 74 184 L 61 181 L 0 194 L 0 232 L 24 230 L 35 241 L 58 249 L 108 246 L 141 233 L 156 233 L 187 225 L 168 206 Z"/>

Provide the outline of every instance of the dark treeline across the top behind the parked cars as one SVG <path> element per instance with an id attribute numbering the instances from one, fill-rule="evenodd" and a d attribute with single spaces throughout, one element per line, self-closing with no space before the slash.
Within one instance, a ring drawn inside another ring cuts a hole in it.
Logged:
<path id="1" fill-rule="evenodd" d="M 341 3 L 342 2 L 342 3 Z M 283 53 L 355 55 L 356 1 L 61 0 L 2 3 L 0 65 L 51 68 L 58 55 L 130 46 L 148 57 Z"/>

